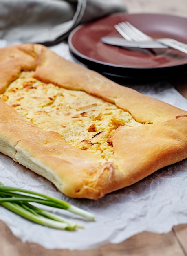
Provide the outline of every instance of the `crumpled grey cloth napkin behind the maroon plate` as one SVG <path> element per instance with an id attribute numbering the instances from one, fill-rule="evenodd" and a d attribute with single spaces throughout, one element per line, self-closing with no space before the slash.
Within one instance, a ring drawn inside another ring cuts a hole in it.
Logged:
<path id="1" fill-rule="evenodd" d="M 0 39 L 52 45 L 82 22 L 121 11 L 123 0 L 0 0 Z"/>

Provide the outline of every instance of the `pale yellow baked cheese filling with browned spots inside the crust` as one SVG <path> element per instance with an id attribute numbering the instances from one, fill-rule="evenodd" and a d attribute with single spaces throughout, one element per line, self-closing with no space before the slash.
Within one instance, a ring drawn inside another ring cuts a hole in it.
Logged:
<path id="1" fill-rule="evenodd" d="M 119 126 L 137 126 L 133 117 L 113 103 L 82 91 L 60 88 L 22 72 L 0 98 L 43 130 L 55 131 L 69 144 L 108 159 L 107 140 Z"/>

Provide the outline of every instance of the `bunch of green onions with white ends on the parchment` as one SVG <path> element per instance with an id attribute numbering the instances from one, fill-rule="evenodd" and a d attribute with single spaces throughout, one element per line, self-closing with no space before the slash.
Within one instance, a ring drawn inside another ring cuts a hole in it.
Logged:
<path id="1" fill-rule="evenodd" d="M 40 225 L 52 227 L 55 229 L 75 230 L 83 228 L 82 225 L 76 224 L 59 215 L 35 207 L 31 203 L 43 204 L 49 207 L 55 207 L 70 211 L 87 220 L 94 220 L 94 215 L 69 204 L 63 200 L 53 198 L 42 193 L 18 189 L 11 186 L 4 186 L 0 182 L 0 205 L 17 213 L 18 215 Z"/>

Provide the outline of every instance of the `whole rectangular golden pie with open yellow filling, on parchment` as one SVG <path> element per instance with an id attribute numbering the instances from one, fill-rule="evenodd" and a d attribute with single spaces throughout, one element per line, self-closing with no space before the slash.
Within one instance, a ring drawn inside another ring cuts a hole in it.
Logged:
<path id="1" fill-rule="evenodd" d="M 187 112 L 39 44 L 0 49 L 0 151 L 98 199 L 187 157 Z"/>

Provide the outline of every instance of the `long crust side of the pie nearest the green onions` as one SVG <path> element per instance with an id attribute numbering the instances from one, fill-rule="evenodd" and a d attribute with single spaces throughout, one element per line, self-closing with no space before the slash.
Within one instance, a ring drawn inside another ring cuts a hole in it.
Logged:
<path id="1" fill-rule="evenodd" d="M 69 196 L 97 199 L 105 194 L 105 187 L 114 188 L 117 173 L 112 163 L 70 146 L 56 132 L 41 130 L 2 100 L 0 109 L 2 153 L 51 180 Z"/>

